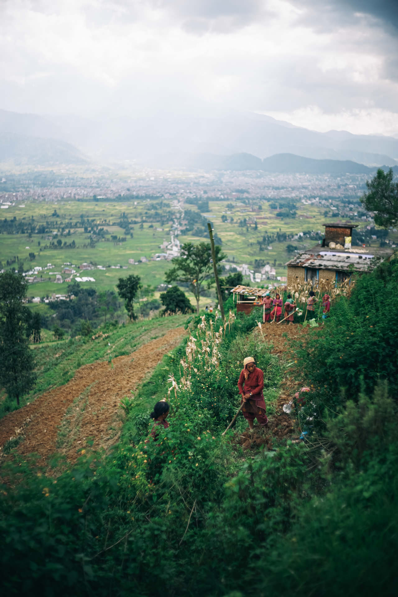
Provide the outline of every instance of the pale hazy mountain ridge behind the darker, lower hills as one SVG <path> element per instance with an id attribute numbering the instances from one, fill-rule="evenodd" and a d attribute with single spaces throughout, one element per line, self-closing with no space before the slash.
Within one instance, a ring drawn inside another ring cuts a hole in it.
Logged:
<path id="1" fill-rule="evenodd" d="M 238 153 L 267 158 L 293 153 L 307 158 L 353 160 L 366 165 L 396 164 L 398 139 L 353 135 L 347 131 L 317 133 L 254 113 L 189 115 L 104 115 L 96 121 L 75 116 L 39 116 L 0 110 L 0 132 L 60 139 L 97 159 L 136 159 L 153 165 L 182 165 L 181 158 Z"/>

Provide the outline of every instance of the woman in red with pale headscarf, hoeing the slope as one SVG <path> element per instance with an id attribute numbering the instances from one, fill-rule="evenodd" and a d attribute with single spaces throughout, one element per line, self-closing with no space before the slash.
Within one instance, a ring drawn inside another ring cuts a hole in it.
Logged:
<path id="1" fill-rule="evenodd" d="M 252 356 L 246 356 L 243 360 L 243 369 L 240 372 L 237 387 L 242 396 L 240 404 L 243 403 L 243 417 L 248 421 L 250 429 L 254 429 L 255 418 L 261 427 L 266 427 L 268 418 L 263 395 L 264 373 L 255 366 Z"/>

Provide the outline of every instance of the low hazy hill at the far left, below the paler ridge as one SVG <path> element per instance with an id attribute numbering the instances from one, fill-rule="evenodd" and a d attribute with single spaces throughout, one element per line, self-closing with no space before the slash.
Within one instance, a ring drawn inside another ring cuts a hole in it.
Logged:
<path id="1" fill-rule="evenodd" d="M 76 147 L 57 139 L 42 139 L 16 133 L 0 133 L 0 162 L 15 165 L 85 164 Z"/>

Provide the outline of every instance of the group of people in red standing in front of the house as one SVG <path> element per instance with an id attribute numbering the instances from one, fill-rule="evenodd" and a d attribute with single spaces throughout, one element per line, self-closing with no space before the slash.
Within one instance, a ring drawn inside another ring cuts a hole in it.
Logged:
<path id="1" fill-rule="evenodd" d="M 317 303 L 317 298 L 313 290 L 310 291 L 310 294 L 307 298 L 307 311 L 313 312 L 315 310 L 315 304 Z M 261 297 L 260 295 L 257 296 L 254 304 L 263 305 L 263 324 L 266 322 L 273 322 L 279 323 L 280 318 L 282 316 L 282 308 L 285 311 L 285 317 L 282 321 L 286 321 L 287 324 L 292 324 L 294 321 L 294 313 L 296 312 L 296 303 L 293 300 L 291 294 L 288 294 L 285 304 L 283 304 L 282 298 L 280 298 L 280 294 L 276 293 L 275 298 L 270 297 L 270 293 L 267 292 L 265 297 Z M 328 313 L 331 309 L 331 302 L 329 294 L 324 294 L 322 297 L 322 319 L 326 319 Z"/>

